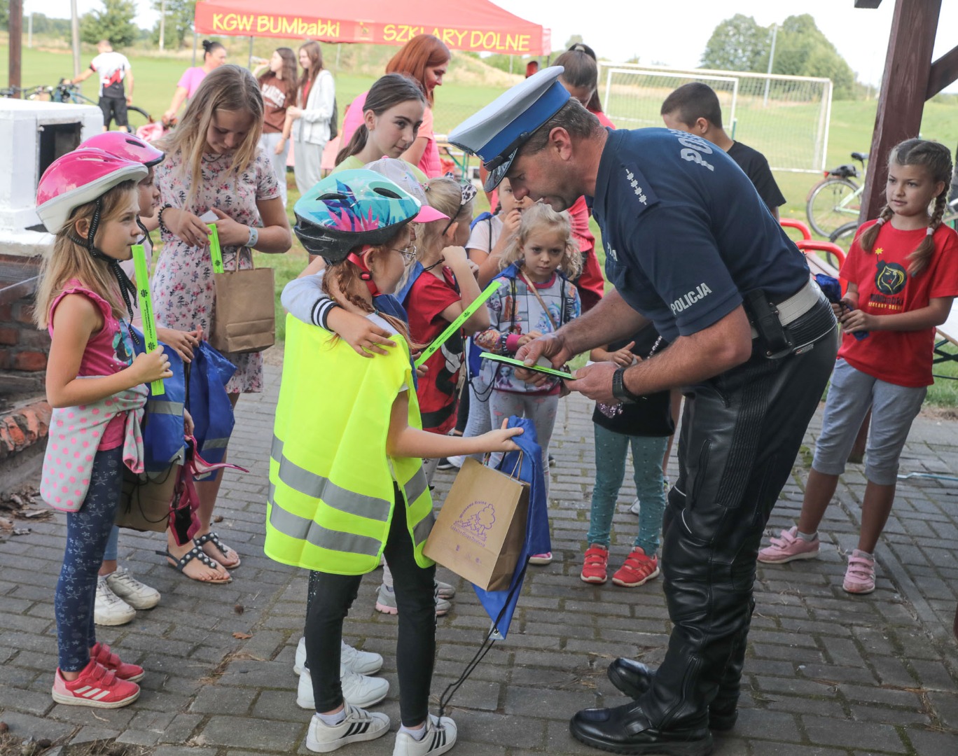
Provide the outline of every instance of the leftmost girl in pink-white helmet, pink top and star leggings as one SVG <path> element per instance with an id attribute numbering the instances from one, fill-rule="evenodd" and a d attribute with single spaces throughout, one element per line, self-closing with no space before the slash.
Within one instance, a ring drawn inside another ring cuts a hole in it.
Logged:
<path id="1" fill-rule="evenodd" d="M 43 262 L 34 317 L 52 339 L 46 384 L 55 408 L 41 489 L 48 504 L 67 510 L 53 698 L 70 705 L 125 706 L 140 695 L 136 680 L 144 676 L 97 641 L 93 607 L 120 501 L 126 434 L 136 441 L 137 424 L 126 416 L 138 395 L 146 401 L 144 383 L 172 376 L 162 347 L 133 358 L 124 322 L 132 295 L 119 262 L 141 237 L 136 182 L 147 174 L 142 163 L 78 149 L 54 161 L 37 188 L 37 215 L 57 235 Z M 89 420 L 95 427 L 84 432 L 77 425 L 87 414 L 114 417 Z"/>

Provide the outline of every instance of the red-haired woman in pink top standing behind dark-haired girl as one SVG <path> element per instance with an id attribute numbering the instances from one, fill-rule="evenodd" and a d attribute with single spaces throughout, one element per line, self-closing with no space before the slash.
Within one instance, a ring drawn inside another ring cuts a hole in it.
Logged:
<path id="1" fill-rule="evenodd" d="M 399 52 L 386 64 L 387 74 L 408 74 L 415 79 L 425 95 L 429 106 L 422 114 L 422 126 L 413 146 L 402 153 L 402 160 L 418 166 L 429 178 L 442 175 L 443 167 L 439 160 L 439 146 L 432 126 L 433 91 L 443 85 L 443 77 L 449 67 L 451 55 L 449 48 L 439 37 L 432 34 L 418 34 L 406 42 Z M 343 120 L 342 142 L 349 144 L 356 128 L 362 124 L 366 93 L 350 103 Z"/>

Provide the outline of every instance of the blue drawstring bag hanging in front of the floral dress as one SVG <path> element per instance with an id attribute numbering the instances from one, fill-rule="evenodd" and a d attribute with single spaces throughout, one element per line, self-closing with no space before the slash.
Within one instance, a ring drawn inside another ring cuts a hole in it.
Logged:
<path id="1" fill-rule="evenodd" d="M 223 461 L 233 433 L 233 405 L 226 393 L 226 384 L 236 370 L 232 362 L 205 341 L 193 351 L 186 408 L 193 416 L 196 451 L 211 463 Z M 214 470 L 195 479 L 216 480 L 218 474 L 219 471 Z"/>

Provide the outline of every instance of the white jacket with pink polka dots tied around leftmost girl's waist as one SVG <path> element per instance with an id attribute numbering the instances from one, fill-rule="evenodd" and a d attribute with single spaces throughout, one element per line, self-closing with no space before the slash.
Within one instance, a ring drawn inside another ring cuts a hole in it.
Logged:
<path id="1" fill-rule="evenodd" d="M 123 461 L 143 472 L 143 422 L 147 386 L 139 385 L 90 404 L 58 407 L 50 418 L 40 496 L 61 512 L 79 512 L 90 488 L 90 473 L 106 426 L 123 418 Z"/>

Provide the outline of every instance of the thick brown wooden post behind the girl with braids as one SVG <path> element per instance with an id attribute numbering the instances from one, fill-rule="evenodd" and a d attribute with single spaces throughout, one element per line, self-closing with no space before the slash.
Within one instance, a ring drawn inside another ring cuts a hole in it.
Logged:
<path id="1" fill-rule="evenodd" d="M 899 142 L 918 136 L 922 126 L 941 10 L 942 0 L 898 0 L 895 5 L 859 223 L 877 218 L 885 203 L 888 153 Z"/>

